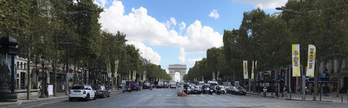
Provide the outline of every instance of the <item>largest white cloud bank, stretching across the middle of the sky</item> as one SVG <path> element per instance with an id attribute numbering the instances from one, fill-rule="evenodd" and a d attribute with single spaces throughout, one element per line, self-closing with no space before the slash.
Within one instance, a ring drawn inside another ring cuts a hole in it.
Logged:
<path id="1" fill-rule="evenodd" d="M 98 0 L 97 3 L 100 1 L 102 0 Z M 125 13 L 124 9 L 122 2 L 117 0 L 114 0 L 111 6 L 105 7 L 104 12 L 100 14 L 102 27 L 109 29 L 112 33 L 117 33 L 119 30 L 127 35 L 126 39 L 139 42 L 137 44 L 146 43 L 151 46 L 180 48 L 181 53 L 178 55 L 180 62 L 185 62 L 187 53 L 202 53 L 207 48 L 222 46 L 222 35 L 214 32 L 213 28 L 209 26 L 202 26 L 199 20 L 192 24 L 185 24 L 184 22 L 177 23 L 175 18 L 171 17 L 170 21 L 166 20 L 161 23 L 148 15 L 148 10 L 144 7 L 132 8 L 128 14 Z M 169 29 L 171 25 L 175 26 L 176 24 L 180 26 L 179 32 Z M 187 27 L 187 25 L 189 26 Z M 181 34 L 184 30 L 186 30 L 185 34 Z M 147 59 L 155 63 L 155 60 Z"/>

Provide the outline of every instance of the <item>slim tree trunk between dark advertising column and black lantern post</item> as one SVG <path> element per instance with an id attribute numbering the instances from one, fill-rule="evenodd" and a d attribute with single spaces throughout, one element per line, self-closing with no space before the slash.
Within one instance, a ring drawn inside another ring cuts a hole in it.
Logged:
<path id="1" fill-rule="evenodd" d="M 28 53 L 27 53 L 27 70 L 26 70 L 26 73 L 27 73 L 27 76 L 26 76 L 26 99 L 27 100 L 30 100 L 30 45 L 27 46 L 27 50 L 28 50 Z M 39 87 L 38 85 L 36 85 L 37 87 Z"/>

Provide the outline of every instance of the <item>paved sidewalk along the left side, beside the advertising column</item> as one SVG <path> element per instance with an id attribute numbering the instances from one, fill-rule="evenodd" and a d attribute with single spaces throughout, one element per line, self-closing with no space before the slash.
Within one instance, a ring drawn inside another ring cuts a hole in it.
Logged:
<path id="1" fill-rule="evenodd" d="M 110 90 L 111 94 L 114 93 L 120 93 L 122 90 Z M 39 92 L 40 96 L 41 92 Z M 39 96 L 32 96 L 30 97 L 30 100 L 26 100 L 26 97 L 20 97 L 17 99 L 16 102 L 0 102 L 0 108 L 7 108 L 7 107 L 19 107 L 23 105 L 39 105 L 42 103 L 48 103 L 48 102 L 60 102 L 60 101 L 67 101 L 68 95 L 65 95 L 65 93 L 57 93 L 56 97 L 52 98 L 39 98 Z"/>

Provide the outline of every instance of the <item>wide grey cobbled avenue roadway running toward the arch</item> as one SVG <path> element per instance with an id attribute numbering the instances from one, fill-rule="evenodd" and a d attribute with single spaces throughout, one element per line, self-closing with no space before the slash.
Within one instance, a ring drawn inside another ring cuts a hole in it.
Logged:
<path id="1" fill-rule="evenodd" d="M 180 89 L 142 89 L 141 91 L 112 94 L 111 97 L 98 98 L 88 102 L 81 100 L 47 103 L 33 108 L 186 108 L 186 107 L 278 107 L 278 108 L 347 108 L 347 103 L 294 101 L 283 98 L 264 98 L 256 95 L 188 95 L 176 96 Z M 67 99 L 68 100 L 68 99 Z"/>

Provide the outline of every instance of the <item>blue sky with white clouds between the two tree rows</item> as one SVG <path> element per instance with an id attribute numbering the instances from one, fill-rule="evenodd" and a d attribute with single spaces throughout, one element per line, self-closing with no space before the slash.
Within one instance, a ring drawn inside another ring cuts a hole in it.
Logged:
<path id="1" fill-rule="evenodd" d="M 207 48 L 221 46 L 223 30 L 239 28 L 243 12 L 260 7 L 272 14 L 279 12 L 275 7 L 284 6 L 286 0 L 96 0 L 95 3 L 105 8 L 100 19 L 103 28 L 113 33 L 124 32 L 127 44 L 134 44 L 144 58 L 168 70 L 169 64 L 186 64 L 189 69 L 195 60 L 206 57 Z"/>

